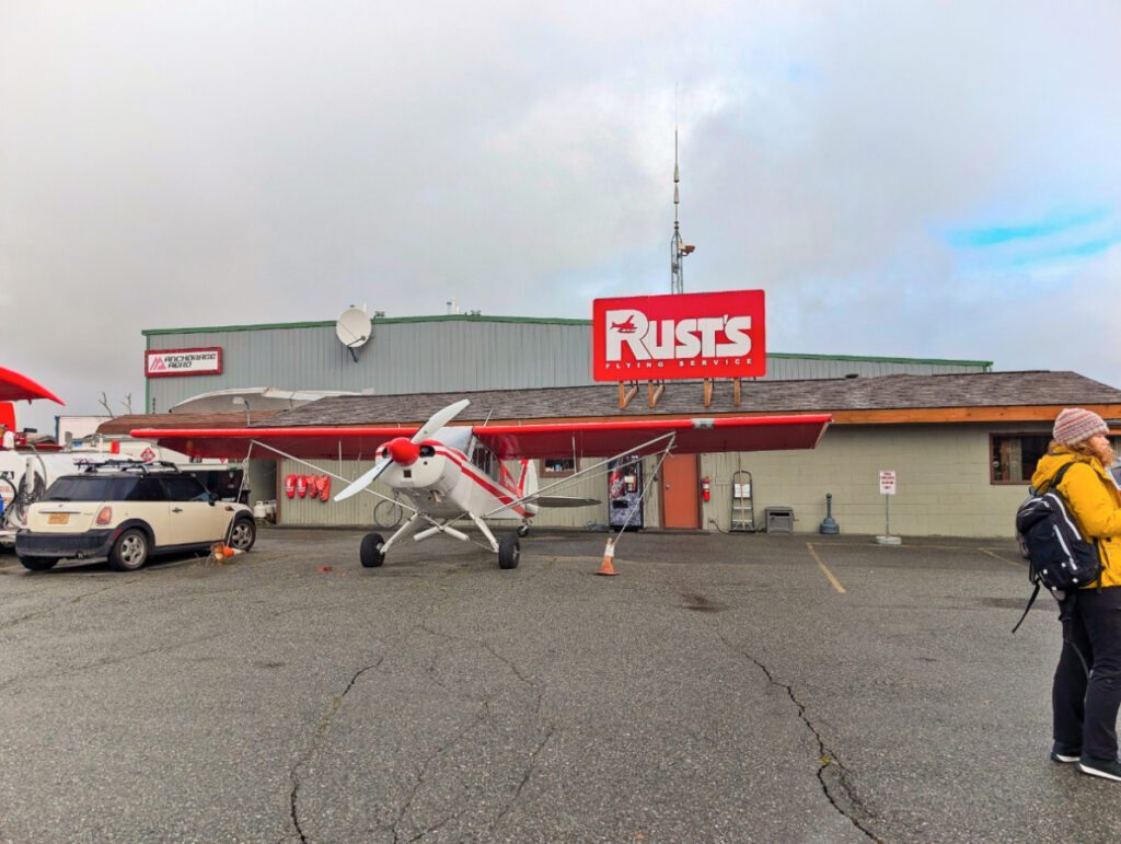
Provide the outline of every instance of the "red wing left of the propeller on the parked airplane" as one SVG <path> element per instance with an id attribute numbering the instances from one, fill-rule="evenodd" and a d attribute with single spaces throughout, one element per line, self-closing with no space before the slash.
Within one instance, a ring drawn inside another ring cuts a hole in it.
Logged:
<path id="1" fill-rule="evenodd" d="M 192 457 L 241 458 L 252 440 L 294 457 L 373 460 L 378 446 L 393 437 L 411 437 L 417 427 L 307 427 L 307 428 L 137 428 L 138 439 L 155 439 L 161 446 Z"/>

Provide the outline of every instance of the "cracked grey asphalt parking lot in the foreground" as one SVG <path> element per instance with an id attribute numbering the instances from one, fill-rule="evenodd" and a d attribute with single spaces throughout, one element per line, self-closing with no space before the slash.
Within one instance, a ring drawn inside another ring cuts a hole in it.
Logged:
<path id="1" fill-rule="evenodd" d="M 1011 542 L 539 532 L 0 556 L 0 840 L 1117 841 Z M 321 571 L 330 567 L 331 571 Z"/>

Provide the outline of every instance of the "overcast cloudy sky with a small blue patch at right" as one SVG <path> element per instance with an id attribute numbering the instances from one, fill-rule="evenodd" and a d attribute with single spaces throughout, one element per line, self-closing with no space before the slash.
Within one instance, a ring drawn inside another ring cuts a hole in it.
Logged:
<path id="1" fill-rule="evenodd" d="M 771 351 L 1121 386 L 1121 3 L 0 0 L 0 365 L 763 288 Z M 291 384 L 293 387 L 304 384 Z"/>

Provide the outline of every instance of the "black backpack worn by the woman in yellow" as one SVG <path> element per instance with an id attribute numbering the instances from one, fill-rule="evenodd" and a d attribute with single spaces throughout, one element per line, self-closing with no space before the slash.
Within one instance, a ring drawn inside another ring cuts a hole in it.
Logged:
<path id="1" fill-rule="evenodd" d="M 1016 511 L 1016 538 L 1028 560 L 1028 579 L 1035 584 L 1035 591 L 1023 608 L 1023 615 L 1012 628 L 1013 633 L 1027 618 L 1040 586 L 1046 586 L 1055 600 L 1062 601 L 1067 592 L 1082 588 L 1101 576 L 1097 540 L 1086 541 L 1082 536 L 1058 490 L 1063 475 L 1073 465 L 1071 462 L 1063 466 L 1044 491 L 1036 490 Z"/>

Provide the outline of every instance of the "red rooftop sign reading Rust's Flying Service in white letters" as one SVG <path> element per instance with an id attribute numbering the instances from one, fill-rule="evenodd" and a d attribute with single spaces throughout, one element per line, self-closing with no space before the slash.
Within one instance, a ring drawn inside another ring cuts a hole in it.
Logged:
<path id="1" fill-rule="evenodd" d="M 762 290 L 595 299 L 592 335 L 596 381 L 767 373 Z"/>

